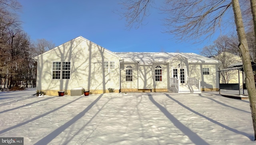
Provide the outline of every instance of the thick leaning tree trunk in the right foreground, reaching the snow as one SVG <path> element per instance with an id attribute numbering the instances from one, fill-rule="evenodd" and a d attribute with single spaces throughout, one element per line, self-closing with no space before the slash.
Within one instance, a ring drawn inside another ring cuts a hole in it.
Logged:
<path id="1" fill-rule="evenodd" d="M 254 1 L 254 0 L 252 0 Z M 232 6 L 234 11 L 234 18 L 236 23 L 236 31 L 239 40 L 239 51 L 243 62 L 243 69 L 245 72 L 245 83 L 250 101 L 250 109 L 252 114 L 252 125 L 254 129 L 254 140 L 256 139 L 256 88 L 254 82 L 254 75 L 252 71 L 252 65 L 250 60 L 250 54 L 248 49 L 248 43 L 246 40 L 246 34 L 244 31 L 244 25 L 242 20 L 242 14 L 238 0 L 232 0 Z"/>

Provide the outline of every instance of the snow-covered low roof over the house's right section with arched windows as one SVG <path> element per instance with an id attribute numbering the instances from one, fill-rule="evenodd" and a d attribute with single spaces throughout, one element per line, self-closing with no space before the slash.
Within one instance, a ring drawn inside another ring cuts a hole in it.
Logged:
<path id="1" fill-rule="evenodd" d="M 219 63 L 219 61 L 195 53 L 161 53 L 161 52 L 114 52 L 124 58 L 124 62 L 164 63 L 175 56 L 188 59 L 191 63 Z"/>

